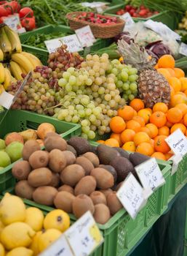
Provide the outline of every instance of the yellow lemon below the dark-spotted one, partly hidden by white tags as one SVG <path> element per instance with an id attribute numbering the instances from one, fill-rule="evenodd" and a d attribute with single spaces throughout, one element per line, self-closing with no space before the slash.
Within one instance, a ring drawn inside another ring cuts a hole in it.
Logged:
<path id="1" fill-rule="evenodd" d="M 39 252 L 44 251 L 50 244 L 60 238 L 62 233 L 59 230 L 55 230 L 55 228 L 51 228 L 49 230 L 44 231 L 39 236 L 38 244 L 39 244 Z"/>

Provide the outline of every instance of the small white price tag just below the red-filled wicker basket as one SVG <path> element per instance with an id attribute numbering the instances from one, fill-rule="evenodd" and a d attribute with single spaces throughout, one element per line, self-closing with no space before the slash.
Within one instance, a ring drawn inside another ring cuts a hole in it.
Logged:
<path id="1" fill-rule="evenodd" d="M 76 35 L 81 42 L 82 47 L 89 47 L 96 41 L 90 26 L 84 26 L 81 29 L 76 29 Z"/>

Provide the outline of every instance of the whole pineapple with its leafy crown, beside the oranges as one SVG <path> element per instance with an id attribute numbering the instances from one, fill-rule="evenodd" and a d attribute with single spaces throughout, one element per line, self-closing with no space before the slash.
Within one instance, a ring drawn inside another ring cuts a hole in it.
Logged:
<path id="1" fill-rule="evenodd" d="M 123 39 L 118 41 L 118 50 L 125 64 L 138 69 L 138 92 L 146 108 L 153 108 L 156 102 L 170 102 L 170 85 L 163 75 L 154 69 L 155 59 L 150 59 L 145 48 L 135 42 L 130 45 Z"/>

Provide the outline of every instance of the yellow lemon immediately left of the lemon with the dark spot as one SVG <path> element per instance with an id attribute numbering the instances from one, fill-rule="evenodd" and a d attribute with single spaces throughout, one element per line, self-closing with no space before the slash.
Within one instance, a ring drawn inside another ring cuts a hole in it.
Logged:
<path id="1" fill-rule="evenodd" d="M 27 223 L 34 231 L 39 231 L 43 227 L 44 214 L 36 207 L 26 209 L 25 223 Z"/>

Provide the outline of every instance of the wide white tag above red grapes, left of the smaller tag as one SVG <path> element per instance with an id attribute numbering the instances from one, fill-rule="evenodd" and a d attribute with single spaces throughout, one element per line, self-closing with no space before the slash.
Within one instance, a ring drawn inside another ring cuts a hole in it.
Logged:
<path id="1" fill-rule="evenodd" d="M 62 45 L 62 43 L 64 45 L 68 45 L 68 51 L 71 53 L 83 50 L 78 37 L 76 37 L 76 34 L 71 34 L 70 36 L 67 36 L 67 37 L 59 37 L 59 38 L 47 40 L 47 41 L 44 41 L 44 43 L 49 53 L 55 52 L 55 50 L 59 48 Z"/>

